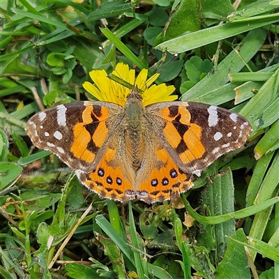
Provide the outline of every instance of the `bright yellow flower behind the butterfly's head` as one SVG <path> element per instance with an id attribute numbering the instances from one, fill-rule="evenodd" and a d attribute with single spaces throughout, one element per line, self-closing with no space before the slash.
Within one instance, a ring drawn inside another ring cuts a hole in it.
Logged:
<path id="1" fill-rule="evenodd" d="M 158 73 L 147 80 L 147 70 L 143 69 L 137 75 L 137 78 L 135 78 L 135 70 L 129 70 L 128 65 L 118 63 L 112 74 L 121 78 L 124 82 L 137 86 L 142 95 L 142 103 L 144 106 L 177 99 L 176 95 L 170 95 L 174 91 L 174 86 L 167 86 L 165 83 L 159 85 L 153 84 L 151 86 L 152 82 L 158 78 Z M 94 84 L 84 82 L 82 85 L 91 95 L 98 100 L 116 103 L 122 106 L 126 104 L 127 96 L 131 91 L 130 89 L 107 77 L 105 70 L 91 70 L 89 75 Z"/>

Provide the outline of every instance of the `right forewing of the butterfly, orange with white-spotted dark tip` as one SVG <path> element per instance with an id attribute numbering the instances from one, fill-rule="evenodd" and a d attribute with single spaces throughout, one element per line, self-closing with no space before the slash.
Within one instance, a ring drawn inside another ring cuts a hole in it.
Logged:
<path id="1" fill-rule="evenodd" d="M 240 114 L 202 103 L 158 103 L 146 110 L 165 123 L 166 149 L 186 173 L 199 175 L 223 154 L 245 144 L 252 128 Z"/>

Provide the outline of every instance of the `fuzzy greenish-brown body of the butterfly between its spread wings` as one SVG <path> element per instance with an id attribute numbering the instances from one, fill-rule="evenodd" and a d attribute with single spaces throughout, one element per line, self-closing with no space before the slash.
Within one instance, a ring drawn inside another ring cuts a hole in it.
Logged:
<path id="1" fill-rule="evenodd" d="M 145 107 L 137 91 L 132 91 L 123 107 L 126 119 L 123 126 L 126 141 L 126 158 L 134 171 L 140 168 L 144 156 Z"/>

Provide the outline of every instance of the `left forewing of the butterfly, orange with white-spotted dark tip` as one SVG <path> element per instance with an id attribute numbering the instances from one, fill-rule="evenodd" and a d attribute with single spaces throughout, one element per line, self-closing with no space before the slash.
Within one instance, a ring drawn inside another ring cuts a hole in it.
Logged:
<path id="1" fill-rule="evenodd" d="M 73 169 L 89 172 L 100 160 L 98 154 L 106 148 L 112 126 L 116 126 L 110 119 L 119 115 L 121 108 L 105 102 L 58 105 L 32 116 L 27 134 L 39 149 L 52 151 Z"/>

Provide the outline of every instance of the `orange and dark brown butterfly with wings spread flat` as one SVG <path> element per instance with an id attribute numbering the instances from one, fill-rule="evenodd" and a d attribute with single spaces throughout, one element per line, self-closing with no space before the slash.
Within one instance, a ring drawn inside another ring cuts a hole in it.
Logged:
<path id="1" fill-rule="evenodd" d="M 59 156 L 100 197 L 151 204 L 191 188 L 194 174 L 243 146 L 252 128 L 240 114 L 214 105 L 144 107 L 134 87 L 124 106 L 58 105 L 32 116 L 26 131 L 35 146 Z"/>

